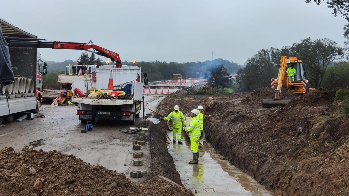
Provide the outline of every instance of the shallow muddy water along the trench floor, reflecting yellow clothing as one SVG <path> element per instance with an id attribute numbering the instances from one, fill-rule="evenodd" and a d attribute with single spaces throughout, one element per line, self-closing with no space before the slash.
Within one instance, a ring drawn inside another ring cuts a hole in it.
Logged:
<path id="1" fill-rule="evenodd" d="M 172 139 L 173 132 L 168 134 Z M 171 143 L 167 148 L 184 186 L 193 193 L 196 190 L 195 195 L 271 195 L 251 176 L 220 159 L 206 141 L 199 144 L 199 164 L 188 164 L 193 158 L 188 139 L 182 133 L 183 144 Z"/>

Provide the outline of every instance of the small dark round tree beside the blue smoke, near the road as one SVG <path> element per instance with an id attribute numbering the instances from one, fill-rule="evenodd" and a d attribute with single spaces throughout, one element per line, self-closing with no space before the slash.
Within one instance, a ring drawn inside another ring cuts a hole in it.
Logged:
<path id="1" fill-rule="evenodd" d="M 231 84 L 230 78 L 227 69 L 224 65 L 217 66 L 216 68 L 211 69 L 211 75 L 208 79 L 208 85 L 211 87 L 216 87 L 217 91 L 220 88 L 227 88 Z"/>

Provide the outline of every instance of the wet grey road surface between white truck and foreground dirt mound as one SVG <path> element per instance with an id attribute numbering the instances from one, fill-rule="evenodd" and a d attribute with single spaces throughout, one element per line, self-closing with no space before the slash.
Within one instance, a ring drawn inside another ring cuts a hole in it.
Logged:
<path id="1" fill-rule="evenodd" d="M 145 113 L 147 107 L 156 108 L 164 96 L 145 95 Z M 12 146 L 16 151 L 22 150 L 29 142 L 44 139 L 45 144 L 36 150 L 57 150 L 65 154 L 73 154 L 92 165 L 102 165 L 117 172 L 123 172 L 130 178 L 133 170 L 148 170 L 150 163 L 149 146 L 142 146 L 143 166 L 133 166 L 132 140 L 138 134 L 123 134 L 120 130 L 137 127 L 143 122 L 143 112 L 136 119 L 135 125 L 124 125 L 117 122 L 97 121 L 93 131 L 80 133 L 85 128 L 76 115 L 76 106 L 43 105 L 40 114 L 45 118 L 23 120 L 5 124 L 0 128 L 0 148 Z M 31 146 L 30 146 L 31 147 Z M 131 178 L 133 181 L 138 179 Z"/>

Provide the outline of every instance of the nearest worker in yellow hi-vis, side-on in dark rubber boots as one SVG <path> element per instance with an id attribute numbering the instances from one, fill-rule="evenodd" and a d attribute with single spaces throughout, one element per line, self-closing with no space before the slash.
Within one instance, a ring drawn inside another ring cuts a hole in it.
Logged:
<path id="1" fill-rule="evenodd" d="M 198 119 L 199 110 L 192 110 L 190 113 L 192 119 L 190 119 L 190 126 L 185 128 L 185 131 L 188 132 L 190 138 L 190 150 L 193 153 L 193 160 L 189 161 L 189 164 L 198 164 L 199 163 L 199 139 L 201 136 L 200 122 Z"/>

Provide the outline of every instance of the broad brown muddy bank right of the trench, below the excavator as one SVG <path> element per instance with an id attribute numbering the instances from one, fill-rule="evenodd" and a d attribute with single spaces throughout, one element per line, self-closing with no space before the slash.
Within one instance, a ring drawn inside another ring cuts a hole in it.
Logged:
<path id="1" fill-rule="evenodd" d="M 269 89 L 224 96 L 182 92 L 163 102 L 185 112 L 203 105 L 206 140 L 276 195 L 348 195 L 349 122 L 334 103 L 335 91 L 319 89 L 289 96 L 285 107 L 262 108 L 260 99 L 270 98 Z"/>

